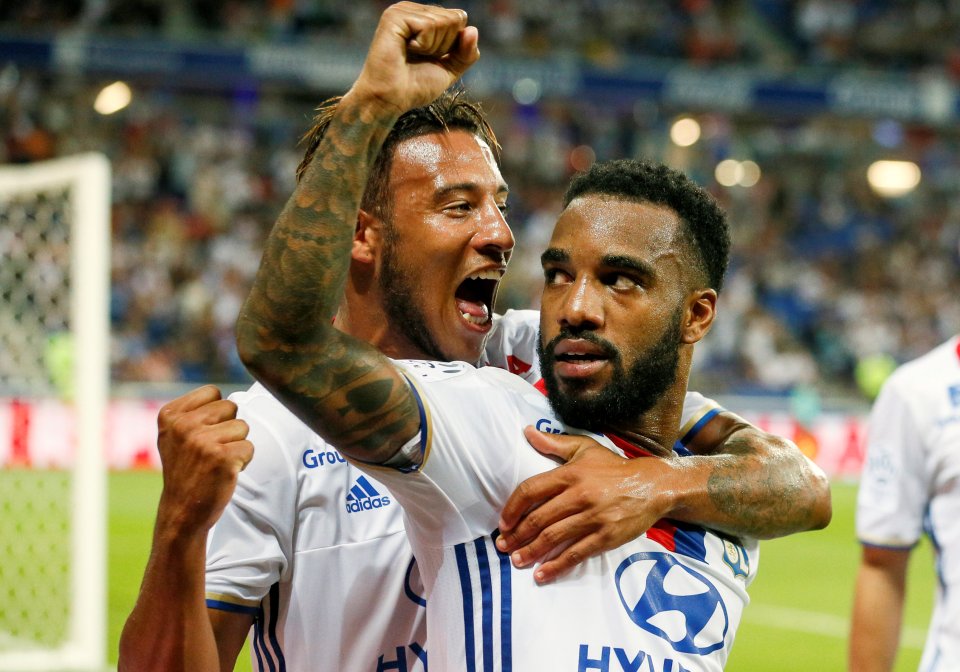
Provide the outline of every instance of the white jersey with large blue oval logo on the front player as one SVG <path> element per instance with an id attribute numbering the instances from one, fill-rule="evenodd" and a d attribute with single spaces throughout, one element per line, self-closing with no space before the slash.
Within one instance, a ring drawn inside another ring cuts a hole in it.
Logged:
<path id="1" fill-rule="evenodd" d="M 362 468 L 403 504 L 433 670 L 723 668 L 749 601 L 755 541 L 660 521 L 537 586 L 532 570 L 513 568 L 494 545 L 500 507 L 521 481 L 555 466 L 522 428 L 575 430 L 539 391 L 495 368 L 399 364 L 421 404 L 422 430 L 409 445 L 419 464 Z"/>

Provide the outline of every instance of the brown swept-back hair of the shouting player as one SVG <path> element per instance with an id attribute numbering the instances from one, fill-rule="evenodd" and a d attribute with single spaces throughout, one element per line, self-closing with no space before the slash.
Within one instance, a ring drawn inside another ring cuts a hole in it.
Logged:
<path id="1" fill-rule="evenodd" d="M 323 136 L 330 126 L 330 120 L 333 118 L 342 98 L 343 96 L 336 96 L 322 102 L 314 114 L 313 126 L 300 139 L 300 143 L 306 145 L 306 151 L 303 160 L 297 166 L 298 182 L 313 160 L 313 155 L 316 153 L 320 141 L 323 140 Z M 397 119 L 370 170 L 370 177 L 367 179 L 367 186 L 363 192 L 360 207 L 381 217 L 388 215 L 391 203 L 389 193 L 390 166 L 397 145 L 404 140 L 420 135 L 451 129 L 473 133 L 486 142 L 493 150 L 494 157 L 499 165 L 500 144 L 497 142 L 497 136 L 487 121 L 480 104 L 469 100 L 462 89 L 446 91 L 429 105 L 408 110 Z"/>

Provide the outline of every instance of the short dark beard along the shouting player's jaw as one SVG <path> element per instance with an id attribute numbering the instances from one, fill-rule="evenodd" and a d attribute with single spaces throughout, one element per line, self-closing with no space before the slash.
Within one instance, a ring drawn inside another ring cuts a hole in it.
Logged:
<path id="1" fill-rule="evenodd" d="M 427 330 L 423 310 L 416 301 L 416 289 L 399 261 L 396 235 L 387 222 L 384 223 L 381 255 L 379 283 L 390 329 L 403 334 L 426 358 L 449 361 Z"/>

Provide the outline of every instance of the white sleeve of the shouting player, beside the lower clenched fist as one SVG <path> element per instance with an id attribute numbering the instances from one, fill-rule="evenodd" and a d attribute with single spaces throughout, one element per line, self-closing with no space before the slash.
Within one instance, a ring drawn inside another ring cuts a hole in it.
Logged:
<path id="1" fill-rule="evenodd" d="M 279 404 L 265 393 L 231 399 L 250 426 L 254 455 L 208 537 L 207 606 L 253 614 L 293 554 L 297 477 L 288 452 L 291 436 L 298 433 L 290 430 L 304 426 L 293 415 L 296 424 L 278 421 Z"/>

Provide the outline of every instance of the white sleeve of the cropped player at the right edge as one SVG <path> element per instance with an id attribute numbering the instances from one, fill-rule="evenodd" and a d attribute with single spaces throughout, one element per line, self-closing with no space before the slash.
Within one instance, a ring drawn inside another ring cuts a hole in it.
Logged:
<path id="1" fill-rule="evenodd" d="M 923 533 L 927 502 L 922 428 L 894 374 L 870 413 L 867 453 L 857 493 L 862 543 L 909 548 Z"/>

